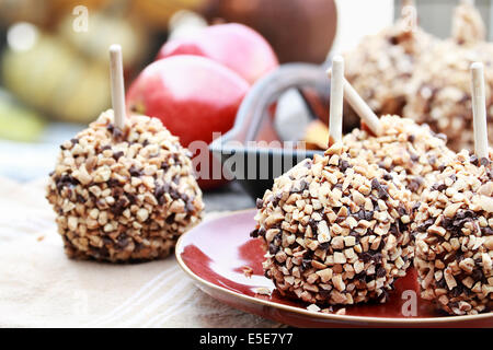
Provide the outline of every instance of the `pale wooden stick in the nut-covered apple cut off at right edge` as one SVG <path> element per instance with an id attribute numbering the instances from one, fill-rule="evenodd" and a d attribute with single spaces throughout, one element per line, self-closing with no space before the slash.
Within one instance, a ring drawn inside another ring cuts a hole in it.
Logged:
<path id="1" fill-rule="evenodd" d="M 474 152 L 479 159 L 488 159 L 486 96 L 484 93 L 483 63 L 474 62 L 471 65 L 471 78 Z"/>

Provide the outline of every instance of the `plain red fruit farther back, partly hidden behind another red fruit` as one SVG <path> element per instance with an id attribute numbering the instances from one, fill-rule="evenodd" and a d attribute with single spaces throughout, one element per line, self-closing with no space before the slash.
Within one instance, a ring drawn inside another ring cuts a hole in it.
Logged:
<path id="1" fill-rule="evenodd" d="M 271 45 L 254 30 L 238 23 L 217 24 L 187 38 L 165 43 L 158 59 L 174 55 L 208 57 L 229 67 L 253 84 L 278 66 Z"/>

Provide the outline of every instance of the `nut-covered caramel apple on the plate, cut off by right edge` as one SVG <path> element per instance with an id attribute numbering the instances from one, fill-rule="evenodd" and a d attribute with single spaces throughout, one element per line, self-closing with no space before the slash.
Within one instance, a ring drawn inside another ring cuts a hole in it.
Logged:
<path id="1" fill-rule="evenodd" d="M 423 192 L 412 226 L 422 298 L 452 315 L 492 311 L 492 159 L 460 152 Z"/>

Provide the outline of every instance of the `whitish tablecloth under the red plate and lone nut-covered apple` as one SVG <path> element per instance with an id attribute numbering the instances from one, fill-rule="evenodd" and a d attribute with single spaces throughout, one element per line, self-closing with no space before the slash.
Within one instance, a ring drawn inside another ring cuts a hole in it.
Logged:
<path id="1" fill-rule="evenodd" d="M 43 187 L 0 178 L 0 327 L 279 326 L 209 298 L 174 257 L 68 259 Z"/>

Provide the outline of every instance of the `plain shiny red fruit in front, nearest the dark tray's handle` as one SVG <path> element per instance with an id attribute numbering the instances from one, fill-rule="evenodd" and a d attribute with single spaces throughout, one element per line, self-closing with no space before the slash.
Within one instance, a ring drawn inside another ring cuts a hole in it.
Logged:
<path id="1" fill-rule="evenodd" d="M 227 67 L 205 57 L 180 55 L 144 69 L 128 90 L 127 107 L 161 119 L 184 147 L 193 141 L 208 144 L 213 132 L 231 129 L 249 89 L 249 83 Z M 209 154 L 207 145 L 199 152 Z M 203 188 L 223 183 L 198 180 Z"/>

